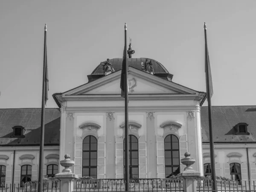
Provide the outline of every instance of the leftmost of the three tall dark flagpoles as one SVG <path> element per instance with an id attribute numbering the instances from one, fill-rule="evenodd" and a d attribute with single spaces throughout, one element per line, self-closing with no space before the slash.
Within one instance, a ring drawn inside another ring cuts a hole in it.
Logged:
<path id="1" fill-rule="evenodd" d="M 38 192 L 42 192 L 42 186 L 43 186 L 46 33 L 47 33 L 47 26 L 45 24 L 45 26 L 44 26 L 44 68 L 43 68 L 43 86 L 42 86 L 41 141 L 40 141 L 40 154 L 39 154 Z"/>

